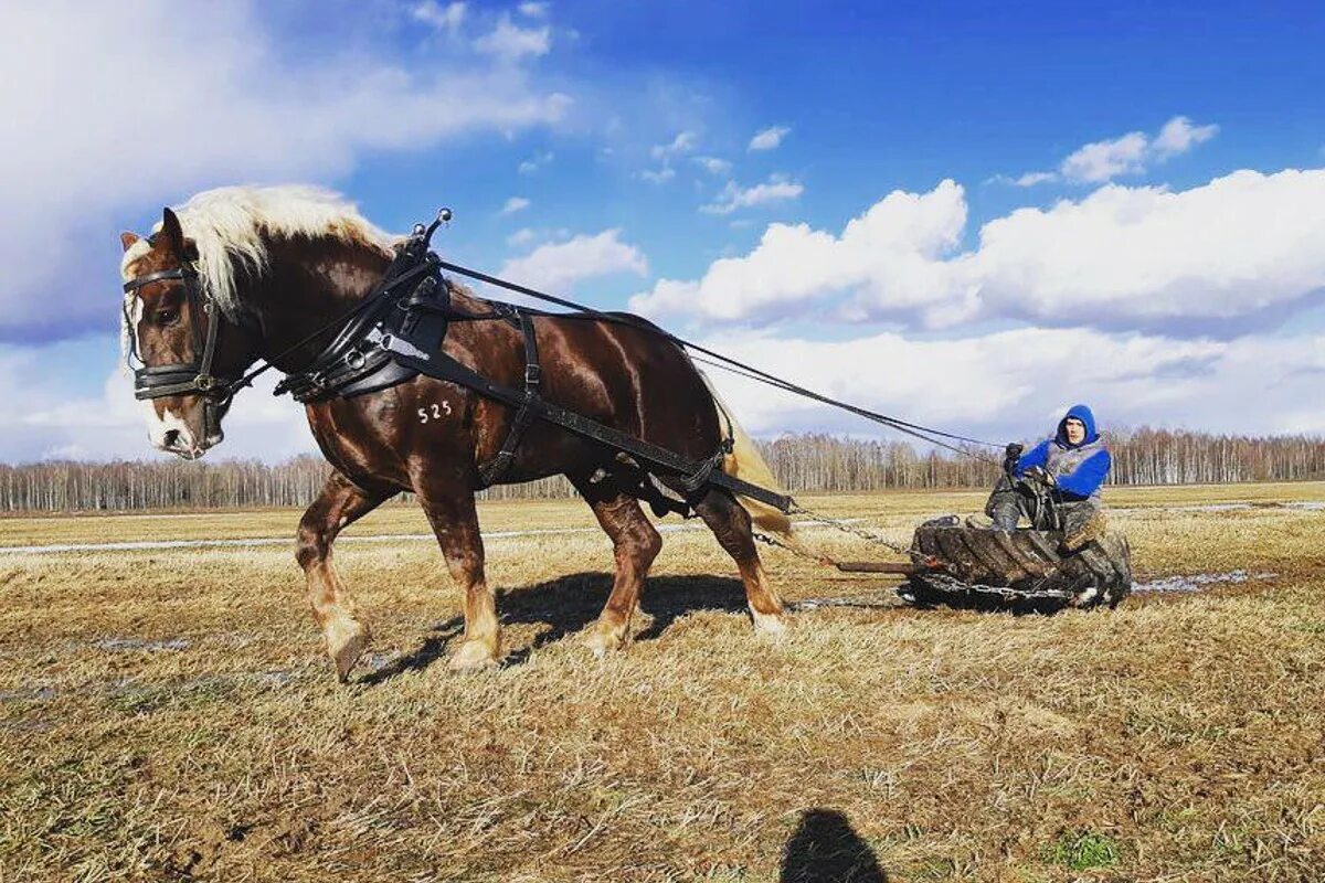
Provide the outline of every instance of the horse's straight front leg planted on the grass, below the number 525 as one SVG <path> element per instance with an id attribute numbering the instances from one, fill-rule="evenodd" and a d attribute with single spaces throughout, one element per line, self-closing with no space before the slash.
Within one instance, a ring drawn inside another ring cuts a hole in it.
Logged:
<path id="1" fill-rule="evenodd" d="M 474 494 L 458 482 L 416 487 L 416 492 L 462 594 L 465 637 L 448 665 L 453 671 L 494 666 L 501 651 L 497 598 L 484 576 L 484 537 Z"/>

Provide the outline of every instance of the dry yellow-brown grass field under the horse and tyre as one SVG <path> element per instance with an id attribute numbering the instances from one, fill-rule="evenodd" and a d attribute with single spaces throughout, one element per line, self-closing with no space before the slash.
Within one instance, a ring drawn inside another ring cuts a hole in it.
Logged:
<path id="1" fill-rule="evenodd" d="M 337 547 L 376 635 L 346 686 L 293 541 L 0 549 L 0 882 L 1320 880 L 1325 512 L 1302 500 L 1325 486 L 1114 491 L 1138 580 L 1247 579 L 1113 612 L 913 609 L 766 549 L 788 601 L 859 598 L 780 639 L 753 634 L 710 535 L 670 532 L 603 661 L 576 633 L 611 584 L 606 537 L 494 536 L 507 661 L 472 675 L 445 666 L 458 597 L 436 545 L 368 539 L 427 534 L 388 507 Z M 906 541 L 980 498 L 803 502 Z M 8 518 L 0 545 L 297 519 Z M 482 522 L 592 526 L 574 502 Z"/>

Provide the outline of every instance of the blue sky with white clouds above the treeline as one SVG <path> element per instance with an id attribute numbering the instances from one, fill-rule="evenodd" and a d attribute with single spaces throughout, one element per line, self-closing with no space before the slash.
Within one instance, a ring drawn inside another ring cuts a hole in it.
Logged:
<path id="1" fill-rule="evenodd" d="M 991 440 L 1325 434 L 1318 4 L 46 3 L 0 36 L 0 462 L 158 458 L 119 232 L 311 183 Z M 757 436 L 878 428 L 714 376 Z M 208 458 L 315 451 L 242 393 Z"/>

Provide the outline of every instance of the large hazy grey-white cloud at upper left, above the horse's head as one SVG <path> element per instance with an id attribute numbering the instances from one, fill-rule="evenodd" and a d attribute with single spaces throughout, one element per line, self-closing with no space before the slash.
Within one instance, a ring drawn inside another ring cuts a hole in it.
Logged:
<path id="1" fill-rule="evenodd" d="M 0 119 L 24 136 L 8 140 L 0 164 L 0 336 L 111 326 L 114 233 L 192 191 L 326 181 L 366 154 L 549 124 L 570 103 L 515 66 L 401 66 L 367 48 L 292 53 L 268 26 L 244 4 L 5 11 L 5 28 L 24 38 L 0 53 L 0 82 L 13 83 L 0 89 Z M 40 293 L 70 271 L 86 283 L 60 286 L 66 299 L 52 319 Z"/>

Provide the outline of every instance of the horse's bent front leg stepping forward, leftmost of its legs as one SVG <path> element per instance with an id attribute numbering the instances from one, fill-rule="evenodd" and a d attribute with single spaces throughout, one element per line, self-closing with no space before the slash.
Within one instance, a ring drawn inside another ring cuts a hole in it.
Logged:
<path id="1" fill-rule="evenodd" d="M 359 620 L 350 592 L 331 567 L 331 544 L 341 531 L 375 510 L 392 492 L 368 492 L 341 473 L 327 478 L 322 494 L 299 519 L 295 559 L 309 581 L 313 618 L 322 627 L 327 655 L 335 663 L 337 676 L 344 682 L 368 649 L 372 633 Z"/>

